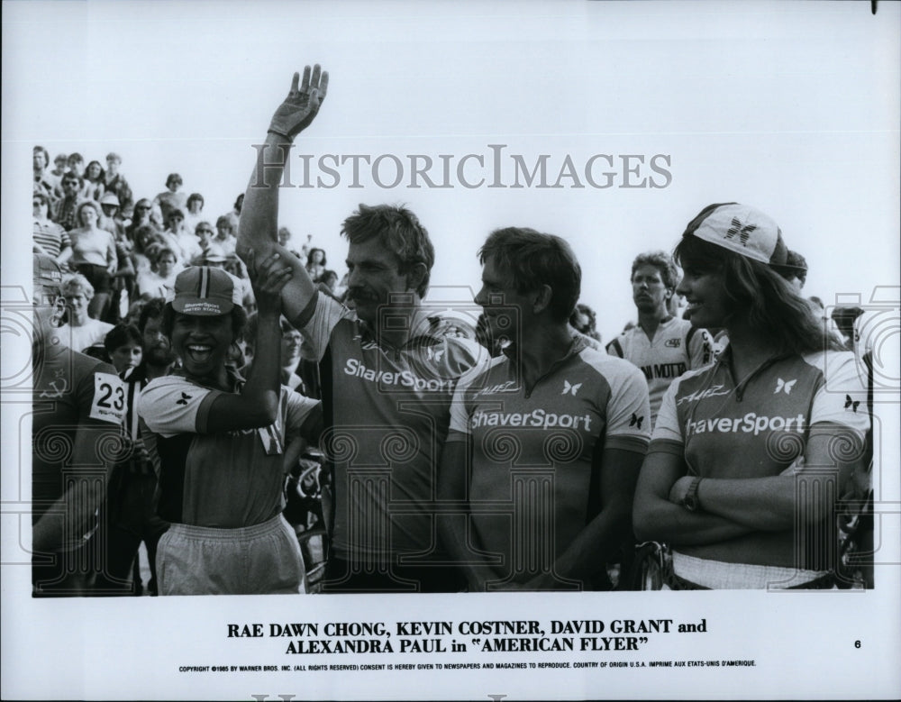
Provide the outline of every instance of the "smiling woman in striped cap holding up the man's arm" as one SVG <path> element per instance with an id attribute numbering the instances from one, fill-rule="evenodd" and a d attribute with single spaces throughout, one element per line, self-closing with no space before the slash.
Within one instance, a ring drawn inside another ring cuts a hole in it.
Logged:
<path id="1" fill-rule="evenodd" d="M 253 269 L 252 260 L 250 268 Z M 254 363 L 247 382 L 227 365 L 247 316 L 240 283 L 222 269 L 178 274 L 162 326 L 181 360 L 138 401 L 159 469 L 160 595 L 304 591 L 304 563 L 285 508 L 285 446 L 316 441 L 318 401 L 279 384 L 279 293 L 291 276 L 278 254 L 258 267 Z"/>

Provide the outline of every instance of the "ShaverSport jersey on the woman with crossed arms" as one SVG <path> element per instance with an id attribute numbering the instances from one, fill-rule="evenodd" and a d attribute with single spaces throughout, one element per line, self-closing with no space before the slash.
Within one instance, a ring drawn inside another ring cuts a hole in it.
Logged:
<path id="1" fill-rule="evenodd" d="M 714 366 L 673 382 L 649 451 L 683 456 L 689 472 L 702 478 L 766 478 L 792 463 L 804 470 L 805 442 L 824 423 L 848 427 L 861 439 L 869 428 L 866 388 L 853 354 L 779 357 L 741 383 L 733 378 L 731 355 L 726 347 Z M 803 567 L 825 570 L 830 554 L 822 538 L 805 543 Z M 792 530 L 751 533 L 731 540 L 723 551 L 720 545 L 698 547 L 693 554 L 750 563 L 769 558 L 762 562 L 783 566 L 798 562 Z"/>

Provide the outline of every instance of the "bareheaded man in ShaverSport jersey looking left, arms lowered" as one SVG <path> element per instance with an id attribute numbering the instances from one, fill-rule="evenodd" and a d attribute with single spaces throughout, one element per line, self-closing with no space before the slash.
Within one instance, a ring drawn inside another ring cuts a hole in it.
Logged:
<path id="1" fill-rule="evenodd" d="M 648 386 L 569 328 L 581 270 L 560 237 L 501 229 L 479 259 L 476 302 L 510 342 L 454 396 L 440 495 L 467 514 L 444 523 L 448 542 L 470 589 L 609 589 L 605 565 L 631 542 Z"/>

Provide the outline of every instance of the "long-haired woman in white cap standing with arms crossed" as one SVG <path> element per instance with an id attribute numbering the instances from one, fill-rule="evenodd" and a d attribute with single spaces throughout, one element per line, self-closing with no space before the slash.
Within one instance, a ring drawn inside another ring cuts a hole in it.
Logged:
<path id="1" fill-rule="evenodd" d="M 669 543 L 673 588 L 833 587 L 835 503 L 869 426 L 853 356 L 788 283 L 766 214 L 710 205 L 675 258 L 691 324 L 724 327 L 729 344 L 663 399 L 635 533 Z"/>

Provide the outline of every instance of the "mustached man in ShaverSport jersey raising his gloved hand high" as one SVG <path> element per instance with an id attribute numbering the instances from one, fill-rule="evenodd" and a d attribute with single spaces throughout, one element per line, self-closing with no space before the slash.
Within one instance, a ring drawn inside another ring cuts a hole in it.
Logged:
<path id="1" fill-rule="evenodd" d="M 259 259 L 277 250 L 291 261 L 282 312 L 320 361 L 334 479 L 324 591 L 454 591 L 462 581 L 441 565 L 448 559 L 436 535 L 437 464 L 454 387 L 480 351 L 455 324 L 423 311 L 434 262 L 428 232 L 403 207 L 359 205 L 341 229 L 354 312 L 317 290 L 304 262 L 277 243 L 278 183 L 327 87 L 318 66 L 305 68 L 303 84 L 295 74 L 251 174 L 237 251 Z"/>

